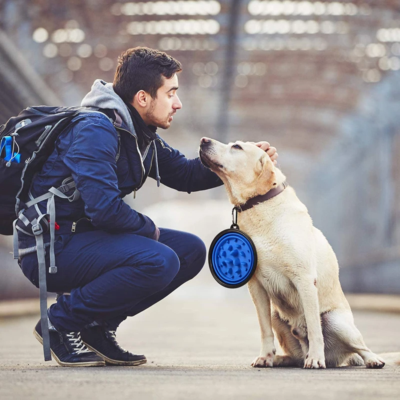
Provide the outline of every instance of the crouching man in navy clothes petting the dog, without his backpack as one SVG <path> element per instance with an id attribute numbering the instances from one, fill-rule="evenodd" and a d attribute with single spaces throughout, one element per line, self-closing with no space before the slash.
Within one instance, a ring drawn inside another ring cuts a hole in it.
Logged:
<path id="1" fill-rule="evenodd" d="M 81 105 L 105 113 L 80 113 L 33 179 L 33 197 L 68 176 L 80 193 L 73 202 L 55 200 L 57 272 L 46 272 L 48 291 L 70 292 L 48 309 L 50 348 L 60 365 L 146 362 L 144 355 L 118 345 L 116 328 L 194 277 L 204 264 L 200 238 L 159 229 L 122 201 L 147 176 L 187 192 L 222 184 L 199 158 L 185 158 L 155 133 L 156 127 L 167 129 L 182 107 L 176 94 L 180 70 L 177 60 L 157 50 L 123 52 L 113 84 L 96 80 L 82 100 Z M 257 145 L 276 162 L 274 147 Z M 49 241 L 48 234 L 44 239 Z M 19 232 L 18 245 L 25 254 L 21 269 L 38 286 L 32 237 Z M 40 321 L 33 333 L 42 342 Z"/>

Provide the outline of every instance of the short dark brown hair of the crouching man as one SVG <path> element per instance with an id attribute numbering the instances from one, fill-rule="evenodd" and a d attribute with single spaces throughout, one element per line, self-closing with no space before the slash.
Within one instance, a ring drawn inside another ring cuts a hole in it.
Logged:
<path id="1" fill-rule="evenodd" d="M 118 57 L 112 86 L 115 93 L 128 103 L 139 90 L 155 98 L 163 83 L 162 76 L 170 79 L 181 70 L 180 62 L 162 51 L 148 47 L 129 48 Z"/>

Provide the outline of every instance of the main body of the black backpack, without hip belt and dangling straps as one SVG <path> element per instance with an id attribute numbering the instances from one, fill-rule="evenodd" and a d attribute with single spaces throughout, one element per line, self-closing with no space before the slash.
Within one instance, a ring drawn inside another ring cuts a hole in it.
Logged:
<path id="1" fill-rule="evenodd" d="M 12 234 L 12 221 L 23 208 L 20 198 L 26 197 L 34 174 L 53 151 L 59 134 L 88 110 L 99 109 L 27 107 L 0 126 L 0 234 Z"/>

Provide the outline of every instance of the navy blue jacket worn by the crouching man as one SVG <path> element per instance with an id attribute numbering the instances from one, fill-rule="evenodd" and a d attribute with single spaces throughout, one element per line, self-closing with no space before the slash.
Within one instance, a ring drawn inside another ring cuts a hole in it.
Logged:
<path id="1" fill-rule="evenodd" d="M 186 158 L 159 136 L 155 145 L 161 183 L 166 186 L 190 193 L 222 184 L 198 157 Z M 138 190 L 147 176 L 155 178 L 153 146 L 144 154 L 142 161 L 137 138 L 123 123 L 117 126 L 100 112 L 81 113 L 58 137 L 54 151 L 32 182 L 31 193 L 37 197 L 72 175 L 80 198 L 69 202 L 55 197 L 56 221 L 61 227 L 88 218 L 96 229 L 152 237 L 155 225 L 150 218 L 122 200 Z M 45 210 L 45 201 L 40 207 Z"/>

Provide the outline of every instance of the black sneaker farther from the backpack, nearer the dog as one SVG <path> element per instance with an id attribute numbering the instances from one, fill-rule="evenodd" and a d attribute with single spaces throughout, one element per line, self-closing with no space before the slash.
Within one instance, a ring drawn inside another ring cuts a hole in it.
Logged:
<path id="1" fill-rule="evenodd" d="M 132 354 L 122 348 L 115 338 L 115 330 L 105 330 L 101 326 L 83 329 L 82 341 L 86 346 L 112 365 L 140 365 L 147 362 L 143 354 Z"/>

